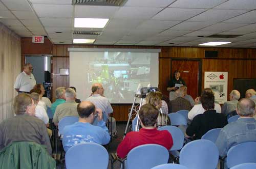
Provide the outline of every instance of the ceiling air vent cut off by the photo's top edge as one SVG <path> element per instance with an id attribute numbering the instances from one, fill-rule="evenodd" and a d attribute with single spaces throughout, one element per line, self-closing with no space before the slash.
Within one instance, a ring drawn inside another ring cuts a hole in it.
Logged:
<path id="1" fill-rule="evenodd" d="M 127 0 L 72 0 L 72 5 L 123 6 Z"/>

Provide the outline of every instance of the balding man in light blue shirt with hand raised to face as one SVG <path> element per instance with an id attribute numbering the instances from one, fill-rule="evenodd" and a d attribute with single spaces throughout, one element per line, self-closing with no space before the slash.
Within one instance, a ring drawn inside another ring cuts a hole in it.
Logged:
<path id="1" fill-rule="evenodd" d="M 66 126 L 63 130 L 63 148 L 67 152 L 69 148 L 78 143 L 97 143 L 106 145 L 110 142 L 110 134 L 102 120 L 101 109 L 95 109 L 90 101 L 82 101 L 77 105 L 79 121 Z M 98 126 L 92 125 L 94 118 L 98 118 Z"/>

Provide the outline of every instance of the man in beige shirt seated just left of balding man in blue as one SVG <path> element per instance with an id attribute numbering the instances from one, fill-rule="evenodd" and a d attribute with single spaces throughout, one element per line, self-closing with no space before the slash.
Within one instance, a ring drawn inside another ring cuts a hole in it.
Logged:
<path id="1" fill-rule="evenodd" d="M 75 102 L 76 92 L 73 89 L 66 89 L 66 102 L 57 106 L 53 115 L 52 122 L 55 126 L 58 125 L 59 121 L 66 116 L 77 116 L 78 112 L 76 106 L 78 103 Z"/>

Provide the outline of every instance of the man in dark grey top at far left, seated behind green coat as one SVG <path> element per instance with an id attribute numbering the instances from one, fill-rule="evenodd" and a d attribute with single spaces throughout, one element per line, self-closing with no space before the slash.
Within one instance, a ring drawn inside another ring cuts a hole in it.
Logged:
<path id="1" fill-rule="evenodd" d="M 0 150 L 12 142 L 27 141 L 45 145 L 52 153 L 50 139 L 44 122 L 36 117 L 35 104 L 29 94 L 22 93 L 14 98 L 16 116 L 0 124 Z"/>

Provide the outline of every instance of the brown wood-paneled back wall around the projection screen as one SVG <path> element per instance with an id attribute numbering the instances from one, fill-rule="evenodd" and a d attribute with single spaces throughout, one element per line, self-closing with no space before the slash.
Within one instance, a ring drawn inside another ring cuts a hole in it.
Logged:
<path id="1" fill-rule="evenodd" d="M 51 48 L 51 45 L 47 49 Z M 206 47 L 158 47 L 158 46 L 106 46 L 106 45 L 53 45 L 53 91 L 60 86 L 69 87 L 69 77 L 59 76 L 59 68 L 69 68 L 69 47 L 77 48 L 161 48 L 159 53 L 159 89 L 168 96 L 167 81 L 170 78 L 170 61 L 173 58 L 201 59 L 202 84 L 205 71 L 228 71 L 228 92 L 232 90 L 233 78 L 256 78 L 256 49 L 252 48 L 206 48 Z M 23 47 L 22 47 L 23 48 Z M 218 59 L 204 58 L 204 50 L 218 50 Z M 25 51 L 25 50 L 23 50 Z M 50 50 L 48 50 L 50 51 Z M 24 53 L 24 52 L 23 52 Z M 24 53 L 27 54 L 27 53 Z M 44 53 L 47 54 L 47 53 Z M 48 53 L 49 54 L 49 53 Z M 188 89 L 189 90 L 189 89 Z M 55 96 L 53 94 L 55 99 Z M 113 105 L 117 121 L 126 121 L 131 105 Z"/>

